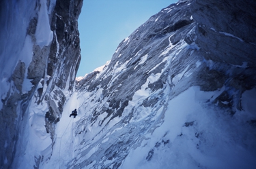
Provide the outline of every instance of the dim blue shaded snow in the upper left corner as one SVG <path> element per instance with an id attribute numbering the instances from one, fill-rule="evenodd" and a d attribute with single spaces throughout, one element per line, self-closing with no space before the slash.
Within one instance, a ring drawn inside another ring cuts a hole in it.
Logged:
<path id="1" fill-rule="evenodd" d="M 20 51 L 24 50 L 27 41 L 27 26 L 31 16 L 33 16 L 35 1 L 6 1 L 9 7 L 1 8 L 1 34 L 0 34 L 0 77 L 9 78 L 14 71 L 16 63 L 20 59 Z M 26 10 L 26 12 L 23 12 Z M 12 45 L 10 45 L 12 44 Z M 27 56 L 31 58 L 30 56 Z M 12 58 L 12 59 L 10 59 Z M 8 84 L 1 84 L 2 87 Z M 2 86 L 3 85 L 3 86 Z"/>

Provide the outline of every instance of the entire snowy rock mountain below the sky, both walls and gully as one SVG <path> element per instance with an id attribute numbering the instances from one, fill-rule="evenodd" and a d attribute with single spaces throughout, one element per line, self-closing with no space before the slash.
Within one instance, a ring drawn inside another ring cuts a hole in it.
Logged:
<path id="1" fill-rule="evenodd" d="M 30 3 L 1 12 L 1 168 L 255 168 L 254 1 L 171 4 L 76 81 L 82 1 Z"/>

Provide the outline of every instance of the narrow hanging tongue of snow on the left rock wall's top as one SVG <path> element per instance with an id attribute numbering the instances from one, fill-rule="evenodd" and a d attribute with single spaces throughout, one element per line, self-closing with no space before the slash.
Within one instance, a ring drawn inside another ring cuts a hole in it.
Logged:
<path id="1" fill-rule="evenodd" d="M 49 45 L 53 40 L 53 31 L 51 31 L 46 3 L 46 0 L 40 0 L 41 7 L 38 12 L 38 24 L 35 31 L 36 43 L 40 48 Z"/>

